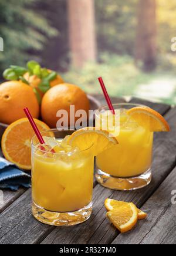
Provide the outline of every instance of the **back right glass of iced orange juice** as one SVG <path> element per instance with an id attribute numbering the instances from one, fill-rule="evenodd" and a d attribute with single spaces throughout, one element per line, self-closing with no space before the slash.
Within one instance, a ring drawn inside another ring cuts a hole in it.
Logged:
<path id="1" fill-rule="evenodd" d="M 137 106 L 141 105 L 113 105 L 115 115 L 108 106 L 104 106 L 96 113 L 96 127 L 106 127 L 119 142 L 96 158 L 96 180 L 104 187 L 136 190 L 147 186 L 151 181 L 153 132 L 147 126 L 139 125 L 127 113 Z"/>

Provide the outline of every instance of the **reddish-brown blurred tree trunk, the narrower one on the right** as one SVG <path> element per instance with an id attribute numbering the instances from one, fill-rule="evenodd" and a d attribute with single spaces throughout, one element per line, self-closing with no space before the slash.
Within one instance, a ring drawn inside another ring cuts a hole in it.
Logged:
<path id="1" fill-rule="evenodd" d="M 153 70 L 156 66 L 156 36 L 156 1 L 139 0 L 136 61 L 141 60 L 146 71 Z"/>

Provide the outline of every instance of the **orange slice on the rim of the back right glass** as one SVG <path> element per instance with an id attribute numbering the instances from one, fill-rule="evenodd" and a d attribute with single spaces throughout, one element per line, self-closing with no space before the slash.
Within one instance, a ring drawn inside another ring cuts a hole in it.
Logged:
<path id="1" fill-rule="evenodd" d="M 151 132 L 170 132 L 170 126 L 164 117 L 150 107 L 133 107 L 127 114 Z"/>

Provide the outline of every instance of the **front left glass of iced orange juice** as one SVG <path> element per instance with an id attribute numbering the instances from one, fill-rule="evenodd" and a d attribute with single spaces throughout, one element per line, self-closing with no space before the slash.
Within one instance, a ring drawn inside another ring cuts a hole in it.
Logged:
<path id="1" fill-rule="evenodd" d="M 75 225 L 92 214 L 94 157 L 91 147 L 67 144 L 73 132 L 43 132 L 42 148 L 32 139 L 32 213 L 45 224 Z"/>

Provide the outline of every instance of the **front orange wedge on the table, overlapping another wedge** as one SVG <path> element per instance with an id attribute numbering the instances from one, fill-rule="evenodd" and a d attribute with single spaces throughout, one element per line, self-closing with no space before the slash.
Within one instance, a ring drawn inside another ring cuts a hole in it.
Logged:
<path id="1" fill-rule="evenodd" d="M 137 207 L 133 203 L 127 203 L 114 210 L 108 211 L 106 216 L 121 233 L 126 233 L 137 223 Z"/>

